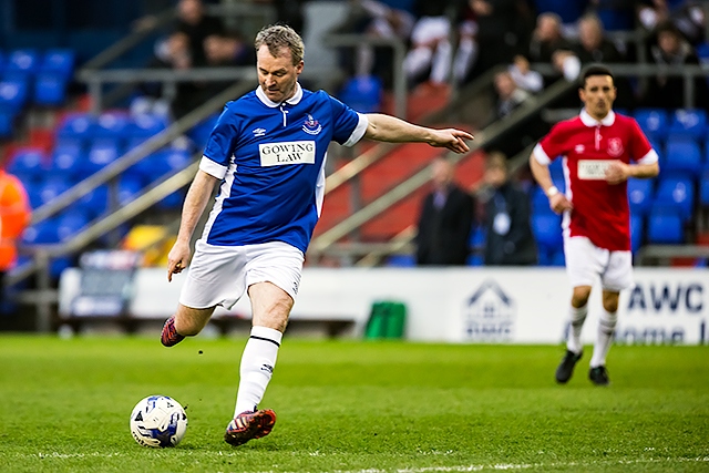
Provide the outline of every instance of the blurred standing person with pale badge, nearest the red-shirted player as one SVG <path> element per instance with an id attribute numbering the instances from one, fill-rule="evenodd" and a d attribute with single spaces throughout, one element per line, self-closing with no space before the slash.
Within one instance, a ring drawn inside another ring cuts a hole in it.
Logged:
<path id="1" fill-rule="evenodd" d="M 507 158 L 490 153 L 485 162 L 483 192 L 486 240 L 484 264 L 487 266 L 536 265 L 537 250 L 530 225 L 530 200 L 526 193 L 510 179 Z"/>

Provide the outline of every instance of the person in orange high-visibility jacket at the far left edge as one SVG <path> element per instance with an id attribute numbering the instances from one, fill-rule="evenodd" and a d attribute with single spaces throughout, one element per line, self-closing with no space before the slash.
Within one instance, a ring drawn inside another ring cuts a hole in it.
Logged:
<path id="1" fill-rule="evenodd" d="M 30 203 L 24 186 L 0 167 L 0 306 L 4 277 L 18 260 L 18 239 L 30 224 Z"/>

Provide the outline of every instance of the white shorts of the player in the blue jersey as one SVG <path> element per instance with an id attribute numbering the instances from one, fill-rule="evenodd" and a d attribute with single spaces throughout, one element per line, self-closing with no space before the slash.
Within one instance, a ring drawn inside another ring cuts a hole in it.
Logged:
<path id="1" fill-rule="evenodd" d="M 296 300 L 304 255 L 282 241 L 259 245 L 195 245 L 179 304 L 193 309 L 224 306 L 230 309 L 256 282 L 273 282 Z"/>

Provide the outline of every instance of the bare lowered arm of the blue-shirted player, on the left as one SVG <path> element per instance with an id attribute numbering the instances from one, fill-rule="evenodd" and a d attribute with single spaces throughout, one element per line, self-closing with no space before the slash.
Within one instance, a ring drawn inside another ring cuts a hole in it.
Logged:
<path id="1" fill-rule="evenodd" d="M 199 217 L 202 217 L 202 213 L 207 206 L 207 202 L 209 202 L 209 197 L 212 197 L 212 191 L 214 191 L 217 181 L 219 179 L 199 169 L 189 186 L 182 208 L 177 239 L 167 255 L 168 281 L 173 280 L 173 275 L 182 273 L 187 267 L 187 261 L 189 261 L 189 239 L 195 232 Z"/>

